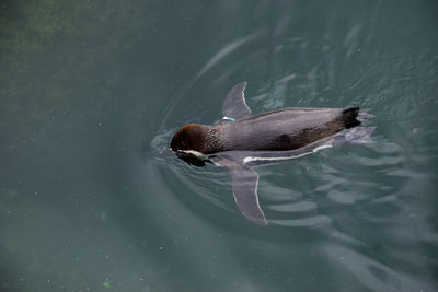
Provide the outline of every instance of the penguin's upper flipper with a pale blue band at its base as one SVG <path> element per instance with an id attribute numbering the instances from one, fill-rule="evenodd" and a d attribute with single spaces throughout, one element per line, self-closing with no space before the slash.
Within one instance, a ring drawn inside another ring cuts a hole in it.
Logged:
<path id="1" fill-rule="evenodd" d="M 222 105 L 223 120 L 239 120 L 251 115 L 251 109 L 245 103 L 245 87 L 246 82 L 241 82 L 227 95 Z"/>

